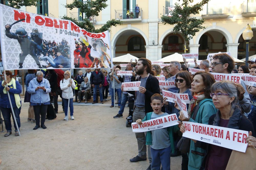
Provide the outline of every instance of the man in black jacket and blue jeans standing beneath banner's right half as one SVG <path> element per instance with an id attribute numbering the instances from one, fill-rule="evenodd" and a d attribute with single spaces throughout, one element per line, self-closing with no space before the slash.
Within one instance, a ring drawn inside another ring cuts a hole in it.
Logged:
<path id="1" fill-rule="evenodd" d="M 93 102 L 92 104 L 96 103 L 96 92 L 97 88 L 99 89 L 100 92 L 100 102 L 103 104 L 103 95 L 102 95 L 102 85 L 104 84 L 104 76 L 100 69 L 95 69 L 90 77 L 90 83 L 93 87 Z"/>

